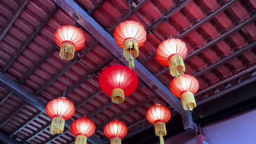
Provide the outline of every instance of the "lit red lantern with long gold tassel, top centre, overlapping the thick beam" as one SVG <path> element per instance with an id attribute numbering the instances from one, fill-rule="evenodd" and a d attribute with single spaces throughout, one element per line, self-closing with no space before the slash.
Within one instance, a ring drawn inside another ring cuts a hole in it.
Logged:
<path id="1" fill-rule="evenodd" d="M 136 21 L 121 22 L 115 28 L 115 42 L 123 49 L 123 55 L 129 62 L 129 68 L 134 69 L 133 57 L 138 57 L 138 49 L 144 44 L 146 37 L 147 32 L 144 27 Z"/>

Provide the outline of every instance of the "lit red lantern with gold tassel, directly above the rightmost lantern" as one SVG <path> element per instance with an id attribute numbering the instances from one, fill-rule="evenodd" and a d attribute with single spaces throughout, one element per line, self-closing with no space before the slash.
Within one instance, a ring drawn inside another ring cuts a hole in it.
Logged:
<path id="1" fill-rule="evenodd" d="M 187 56 L 187 51 L 188 49 L 182 40 L 167 39 L 156 49 L 156 59 L 162 65 L 169 66 L 172 76 L 179 77 L 185 72 L 183 59 Z"/>

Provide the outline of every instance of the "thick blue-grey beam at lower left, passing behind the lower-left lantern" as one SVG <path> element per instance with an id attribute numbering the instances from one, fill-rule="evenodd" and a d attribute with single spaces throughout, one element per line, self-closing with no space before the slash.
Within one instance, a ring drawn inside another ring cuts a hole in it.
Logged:
<path id="1" fill-rule="evenodd" d="M 15 95 L 20 97 L 21 99 L 25 100 L 27 103 L 31 104 L 32 106 L 36 107 L 39 111 L 45 113 L 45 106 L 46 103 L 43 100 L 40 100 L 36 95 L 32 94 L 31 92 L 27 91 L 24 87 L 18 85 L 9 77 L 5 76 L 3 73 L 0 73 L 0 85 L 8 91 L 13 92 Z M 69 128 L 71 123 L 70 119 L 66 121 L 65 127 Z M 91 143 L 104 143 L 101 139 L 96 136 L 91 136 L 88 138 L 88 141 Z"/>

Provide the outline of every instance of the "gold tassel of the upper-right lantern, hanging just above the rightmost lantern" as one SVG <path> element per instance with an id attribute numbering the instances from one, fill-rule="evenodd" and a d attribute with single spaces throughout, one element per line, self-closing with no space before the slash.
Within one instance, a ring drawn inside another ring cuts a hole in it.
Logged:
<path id="1" fill-rule="evenodd" d="M 183 59 L 178 54 L 171 56 L 168 59 L 170 74 L 177 77 L 179 84 L 181 84 L 181 74 L 185 73 L 185 65 Z"/>

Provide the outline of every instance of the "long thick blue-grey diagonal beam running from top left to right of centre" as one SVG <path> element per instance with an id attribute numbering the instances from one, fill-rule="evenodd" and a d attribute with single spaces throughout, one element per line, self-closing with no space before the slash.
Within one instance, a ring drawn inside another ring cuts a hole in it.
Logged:
<path id="1" fill-rule="evenodd" d="M 106 32 L 92 17 L 87 14 L 77 3 L 72 0 L 54 0 L 63 10 L 65 10 L 70 16 L 74 13 L 78 14 L 80 18 L 77 22 L 91 33 L 106 49 L 113 53 L 113 55 L 121 55 L 122 50 L 117 46 L 113 37 Z M 120 61 L 125 65 L 128 65 L 125 58 L 120 58 Z M 163 99 L 166 100 L 177 112 L 181 113 L 184 118 L 184 128 L 188 131 L 193 131 L 193 119 L 191 118 L 191 113 L 185 111 L 182 107 L 181 101 L 171 94 L 170 90 L 166 88 L 156 77 L 150 73 L 141 63 L 135 59 L 136 68 L 135 73 L 138 75 L 142 81 L 144 81 L 149 87 L 154 85 L 158 87 L 156 93 L 158 93 Z"/>

